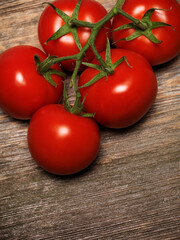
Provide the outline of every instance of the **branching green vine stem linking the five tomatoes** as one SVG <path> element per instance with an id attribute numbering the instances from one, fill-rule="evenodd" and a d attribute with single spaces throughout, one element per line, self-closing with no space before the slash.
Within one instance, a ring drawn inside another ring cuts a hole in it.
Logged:
<path id="1" fill-rule="evenodd" d="M 77 75 L 78 75 L 78 70 L 80 68 L 80 65 L 82 63 L 82 60 L 85 56 L 86 51 L 91 47 L 95 57 L 97 58 L 97 60 L 100 62 L 102 68 L 107 72 L 107 74 L 112 74 L 114 69 L 112 67 L 110 67 L 110 65 L 108 65 L 100 56 L 99 52 L 97 51 L 96 47 L 95 47 L 95 40 L 96 40 L 96 36 L 99 33 L 100 29 L 108 22 L 110 21 L 115 15 L 117 14 L 121 14 L 124 17 L 128 18 L 129 20 L 131 20 L 135 25 L 137 25 L 137 27 L 139 27 L 140 29 L 145 30 L 147 28 L 146 24 L 142 23 L 141 21 L 139 21 L 138 19 L 135 19 L 133 17 L 131 17 L 130 15 L 128 15 L 127 13 L 125 13 L 123 10 L 121 10 L 123 4 L 125 3 L 125 0 L 118 0 L 115 4 L 115 6 L 109 11 L 109 13 L 107 13 L 107 15 L 102 18 L 100 21 L 98 21 L 97 23 L 89 23 L 89 22 L 85 22 L 85 21 L 80 21 L 77 18 L 71 18 L 68 22 L 69 26 L 76 26 L 76 27 L 88 27 L 91 28 L 91 34 L 90 37 L 87 41 L 87 43 L 84 45 L 84 47 L 79 51 L 79 53 L 75 54 L 75 55 L 71 55 L 71 56 L 65 56 L 65 57 L 54 57 L 54 58 L 50 58 L 50 61 L 48 62 L 47 60 L 45 60 L 46 62 L 39 65 L 39 72 L 44 71 L 43 67 L 45 66 L 47 68 L 52 66 L 53 64 L 59 63 L 61 61 L 66 61 L 66 60 L 76 60 L 76 65 L 71 77 L 71 82 L 70 82 L 70 86 L 74 88 L 74 91 L 76 93 L 76 100 L 74 103 L 74 106 L 71 109 L 72 113 L 77 113 L 78 112 L 78 108 L 80 105 L 80 92 L 77 86 Z"/>

